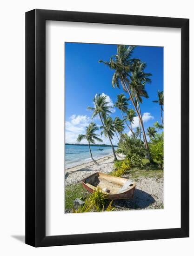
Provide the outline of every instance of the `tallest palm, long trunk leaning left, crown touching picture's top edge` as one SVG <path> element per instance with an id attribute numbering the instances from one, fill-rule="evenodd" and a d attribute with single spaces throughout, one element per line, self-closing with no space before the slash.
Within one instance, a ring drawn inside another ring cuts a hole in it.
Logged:
<path id="1" fill-rule="evenodd" d="M 140 109 L 138 109 L 137 104 L 134 101 L 134 97 L 132 95 L 131 87 L 129 84 L 129 73 L 133 71 L 132 65 L 134 62 L 140 61 L 138 59 L 130 59 L 131 55 L 133 53 L 134 46 L 126 46 L 126 45 L 118 45 L 117 46 L 117 54 L 113 55 L 110 58 L 110 61 L 102 61 L 100 60 L 99 62 L 104 63 L 108 67 L 114 70 L 114 74 L 112 77 L 112 86 L 113 88 L 117 87 L 120 88 L 120 84 L 124 90 L 124 92 L 129 94 L 129 98 L 132 101 L 134 105 L 134 109 L 138 115 L 140 125 L 142 128 L 142 133 L 143 133 L 143 139 L 144 139 L 144 144 L 145 148 L 147 150 L 147 156 L 150 160 L 150 162 L 153 162 L 152 157 L 149 152 L 149 146 L 147 143 L 147 138 L 146 138 L 146 133 L 143 125 L 143 120 L 140 116 Z"/>

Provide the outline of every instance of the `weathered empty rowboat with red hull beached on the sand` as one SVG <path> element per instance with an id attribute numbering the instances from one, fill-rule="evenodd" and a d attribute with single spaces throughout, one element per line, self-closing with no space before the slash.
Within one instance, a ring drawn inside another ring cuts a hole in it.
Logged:
<path id="1" fill-rule="evenodd" d="M 136 182 L 129 179 L 115 177 L 105 173 L 94 173 L 83 179 L 82 186 L 91 194 L 100 188 L 101 191 L 107 194 L 107 199 L 132 199 L 134 197 L 134 190 Z"/>

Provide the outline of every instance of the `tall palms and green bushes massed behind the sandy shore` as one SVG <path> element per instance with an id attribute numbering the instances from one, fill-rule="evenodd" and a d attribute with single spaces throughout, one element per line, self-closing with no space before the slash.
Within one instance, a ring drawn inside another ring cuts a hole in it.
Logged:
<path id="1" fill-rule="evenodd" d="M 117 52 L 110 56 L 109 61 L 99 60 L 114 71 L 112 76 L 112 87 L 122 89 L 123 92 L 117 95 L 114 107 L 120 110 L 122 119 L 118 116 L 111 117 L 113 106 L 110 106 L 106 94 L 96 94 L 93 99 L 94 106 L 87 107 L 91 110 L 92 118 L 98 117 L 101 122 L 100 135 L 104 135 L 110 141 L 112 147 L 114 161 L 118 161 L 117 154 L 126 156 L 131 166 L 141 166 L 142 159 L 147 158 L 151 164 L 154 161 L 160 162 L 162 166 L 162 140 L 161 132 L 163 130 L 163 91 L 157 91 L 158 100 L 156 102 L 160 106 L 161 124 L 156 121 L 153 127 L 148 127 L 147 131 L 144 127 L 144 121 L 141 113 L 141 105 L 143 99 L 149 97 L 146 85 L 151 83 L 151 73 L 147 73 L 146 63 L 137 58 L 132 58 L 134 46 L 118 45 Z M 129 108 L 129 103 L 134 108 Z M 138 118 L 139 127 L 134 130 L 134 118 Z M 128 129 L 128 131 L 126 130 Z M 92 160 L 97 163 L 91 152 L 90 145 L 95 141 L 102 141 L 95 132 L 99 128 L 92 122 L 86 128 L 85 135 L 79 135 L 77 141 L 86 139 L 89 145 L 89 151 Z M 126 131 L 126 133 L 124 133 Z M 115 152 L 113 146 L 114 136 L 117 137 L 118 149 Z M 148 141 L 149 138 L 149 141 Z M 160 142 L 158 141 L 160 138 Z M 156 152 L 154 152 L 156 150 Z M 160 151 L 160 152 L 159 152 Z"/>

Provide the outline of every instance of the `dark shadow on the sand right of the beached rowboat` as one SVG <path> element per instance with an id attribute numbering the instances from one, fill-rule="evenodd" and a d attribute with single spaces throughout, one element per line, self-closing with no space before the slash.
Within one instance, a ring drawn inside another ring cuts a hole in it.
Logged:
<path id="1" fill-rule="evenodd" d="M 113 206 L 118 210 L 127 209 L 146 209 L 149 205 L 153 204 L 155 199 L 147 192 L 135 189 L 134 198 L 131 200 L 115 200 Z"/>

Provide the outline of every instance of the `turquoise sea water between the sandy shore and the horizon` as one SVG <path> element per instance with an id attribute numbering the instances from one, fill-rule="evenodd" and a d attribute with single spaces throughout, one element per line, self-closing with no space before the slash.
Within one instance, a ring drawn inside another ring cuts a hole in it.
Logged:
<path id="1" fill-rule="evenodd" d="M 97 150 L 103 148 L 102 151 Z M 116 148 L 115 148 L 116 149 Z M 112 155 L 113 151 L 111 147 L 104 146 L 91 146 L 93 158 L 96 160 L 106 155 Z M 88 145 L 65 145 L 65 167 L 70 168 L 82 163 L 90 162 Z"/>

